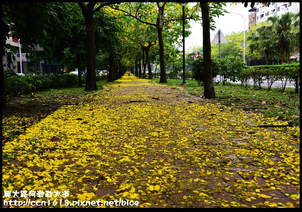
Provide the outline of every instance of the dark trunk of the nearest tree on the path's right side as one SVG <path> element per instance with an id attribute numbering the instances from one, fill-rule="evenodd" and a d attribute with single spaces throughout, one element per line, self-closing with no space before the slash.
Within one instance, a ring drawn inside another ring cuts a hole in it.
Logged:
<path id="1" fill-rule="evenodd" d="M 203 28 L 203 49 L 204 49 L 204 97 L 214 99 L 215 89 L 213 83 L 211 41 L 210 41 L 210 15 L 208 2 L 200 2 L 202 28 Z"/>

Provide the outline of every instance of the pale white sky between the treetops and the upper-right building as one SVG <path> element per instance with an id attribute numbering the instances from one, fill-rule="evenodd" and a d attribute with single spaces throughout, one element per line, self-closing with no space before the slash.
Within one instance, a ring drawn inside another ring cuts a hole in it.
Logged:
<path id="1" fill-rule="evenodd" d="M 194 3 L 191 3 L 192 5 Z M 231 5 L 230 2 L 226 2 L 226 6 L 223 6 L 224 9 L 226 9 L 228 12 L 232 13 L 227 13 L 224 14 L 224 16 L 220 16 L 219 18 L 215 17 L 215 26 L 216 30 L 211 31 L 211 42 L 216 35 L 218 29 L 221 30 L 223 35 L 229 35 L 232 32 L 242 32 L 244 29 L 243 23 L 245 23 L 245 29 L 248 30 L 249 28 L 249 9 L 250 7 L 250 2 L 248 7 L 244 7 L 244 5 L 239 2 L 237 5 Z M 237 13 L 237 14 L 233 14 Z M 240 15 L 238 15 L 240 14 Z M 245 21 L 243 20 L 245 18 Z M 189 48 L 191 46 L 196 46 L 196 40 L 197 40 L 197 46 L 202 46 L 202 27 L 199 23 L 195 23 L 195 21 L 190 20 L 190 31 L 192 32 L 191 35 L 187 38 L 185 38 L 185 49 L 192 49 Z M 180 47 L 182 49 L 182 46 Z M 195 50 L 195 49 L 193 49 Z"/>

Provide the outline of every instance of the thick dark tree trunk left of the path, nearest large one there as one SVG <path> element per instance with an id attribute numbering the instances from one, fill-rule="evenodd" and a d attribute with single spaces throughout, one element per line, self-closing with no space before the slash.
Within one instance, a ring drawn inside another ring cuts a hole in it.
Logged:
<path id="1" fill-rule="evenodd" d="M 95 74 L 95 33 L 92 13 L 86 12 L 84 17 L 87 32 L 87 76 L 85 90 L 98 90 Z"/>

